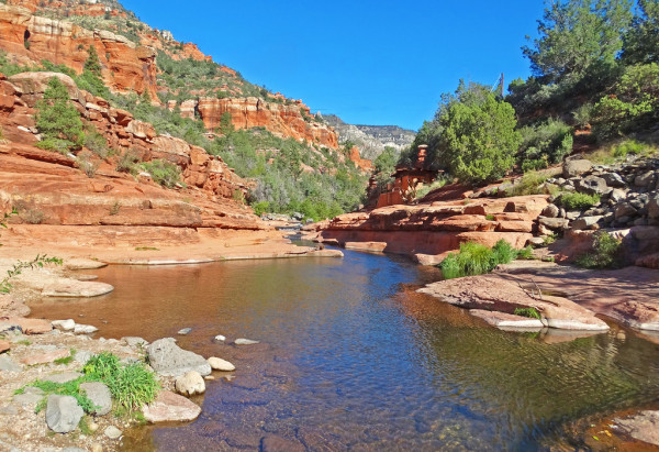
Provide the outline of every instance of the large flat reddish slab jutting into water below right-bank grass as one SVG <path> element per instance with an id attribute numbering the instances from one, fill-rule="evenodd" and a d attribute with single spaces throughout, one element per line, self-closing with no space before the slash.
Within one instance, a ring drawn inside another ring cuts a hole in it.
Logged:
<path id="1" fill-rule="evenodd" d="M 530 282 L 530 279 L 529 279 Z M 528 285 L 525 282 L 526 285 Z M 467 309 L 500 311 L 513 315 L 517 308 L 535 308 L 549 328 L 580 331 L 605 331 L 608 326 L 595 313 L 567 298 L 543 295 L 532 297 L 520 280 L 510 280 L 498 274 L 469 276 L 428 284 L 417 291 L 442 301 Z M 492 320 L 496 321 L 496 320 Z"/>

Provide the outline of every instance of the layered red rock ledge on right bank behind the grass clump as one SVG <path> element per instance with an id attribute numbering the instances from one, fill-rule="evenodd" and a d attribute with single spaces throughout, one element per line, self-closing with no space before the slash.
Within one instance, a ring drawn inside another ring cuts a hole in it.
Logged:
<path id="1" fill-rule="evenodd" d="M 346 213 L 316 228 L 322 229 L 320 240 L 371 242 L 378 251 L 414 255 L 433 264 L 469 241 L 492 246 L 503 239 L 524 247 L 547 203 L 547 196 L 538 195 L 399 205 Z"/>

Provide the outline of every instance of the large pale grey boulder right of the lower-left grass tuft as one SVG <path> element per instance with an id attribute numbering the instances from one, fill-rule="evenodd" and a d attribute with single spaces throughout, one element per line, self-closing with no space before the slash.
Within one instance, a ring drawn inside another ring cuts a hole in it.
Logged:
<path id="1" fill-rule="evenodd" d="M 181 376 L 190 371 L 201 376 L 211 373 L 211 365 L 197 353 L 179 348 L 172 338 L 159 339 L 146 348 L 148 363 L 160 375 Z"/>

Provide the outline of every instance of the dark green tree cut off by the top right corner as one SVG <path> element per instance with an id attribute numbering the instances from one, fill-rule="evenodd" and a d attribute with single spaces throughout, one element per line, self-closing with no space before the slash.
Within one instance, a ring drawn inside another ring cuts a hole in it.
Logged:
<path id="1" fill-rule="evenodd" d="M 659 2 L 638 0 L 640 14 L 634 18 L 624 36 L 623 62 L 659 63 Z"/>

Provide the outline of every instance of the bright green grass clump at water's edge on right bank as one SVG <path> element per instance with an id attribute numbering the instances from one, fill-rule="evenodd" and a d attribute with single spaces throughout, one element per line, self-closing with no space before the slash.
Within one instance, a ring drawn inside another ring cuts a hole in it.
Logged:
<path id="1" fill-rule="evenodd" d="M 440 264 L 445 279 L 489 273 L 499 264 L 507 264 L 517 258 L 520 251 L 500 240 L 491 249 L 474 242 L 460 244 L 458 254 L 450 253 Z"/>

